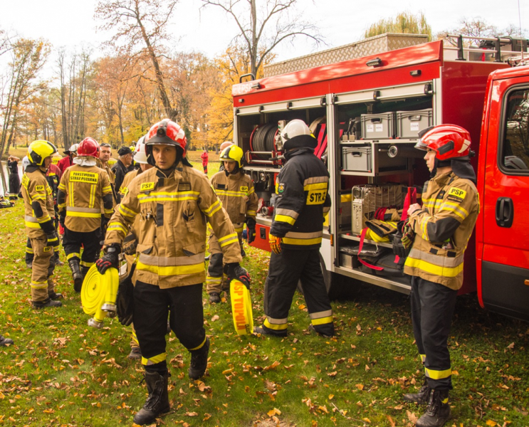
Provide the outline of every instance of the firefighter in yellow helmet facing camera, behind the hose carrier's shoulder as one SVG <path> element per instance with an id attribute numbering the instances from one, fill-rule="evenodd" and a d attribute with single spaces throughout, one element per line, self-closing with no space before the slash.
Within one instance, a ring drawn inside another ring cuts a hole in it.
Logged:
<path id="1" fill-rule="evenodd" d="M 248 243 L 253 242 L 256 237 L 257 209 L 257 195 L 253 190 L 250 176 L 243 172 L 242 158 L 243 150 L 240 147 L 231 145 L 224 149 L 220 156 L 224 171 L 217 172 L 211 177 L 211 185 L 234 224 L 241 250 L 244 223 L 248 228 Z M 221 245 L 212 231 L 209 234 L 208 246 L 211 256 L 206 277 L 206 290 L 209 294 L 209 302 L 216 304 L 221 301 L 221 291 L 229 290 L 229 283 L 223 280 Z"/>

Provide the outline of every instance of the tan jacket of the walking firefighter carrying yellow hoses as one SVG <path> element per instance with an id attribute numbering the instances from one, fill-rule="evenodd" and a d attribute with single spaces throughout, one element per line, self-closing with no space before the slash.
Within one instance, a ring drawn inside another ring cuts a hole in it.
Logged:
<path id="1" fill-rule="evenodd" d="M 108 224 L 105 245 L 121 244 L 135 223 L 136 279 L 159 288 L 203 283 L 206 225 L 226 263 L 240 263 L 241 248 L 228 214 L 207 177 L 179 164 L 166 176 L 156 167 L 138 175 Z"/>

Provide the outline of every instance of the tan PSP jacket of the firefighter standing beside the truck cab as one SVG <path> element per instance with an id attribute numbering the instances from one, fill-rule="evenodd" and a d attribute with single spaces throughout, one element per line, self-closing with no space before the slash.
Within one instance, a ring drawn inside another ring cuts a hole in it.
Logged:
<path id="1" fill-rule="evenodd" d="M 463 258 L 479 214 L 476 186 L 449 172 L 426 181 L 423 207 L 409 216 L 415 234 L 404 273 L 448 288 L 463 285 Z"/>

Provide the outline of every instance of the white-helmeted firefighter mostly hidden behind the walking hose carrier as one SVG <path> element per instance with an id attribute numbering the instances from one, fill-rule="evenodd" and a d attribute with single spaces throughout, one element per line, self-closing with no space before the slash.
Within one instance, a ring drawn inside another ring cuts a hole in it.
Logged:
<path id="1" fill-rule="evenodd" d="M 123 179 L 123 184 L 121 184 L 120 188 L 121 199 L 123 199 L 129 191 L 128 186 L 132 182 L 132 179 L 135 179 L 136 176 L 142 174 L 142 172 L 152 169 L 153 167 L 152 164 L 149 164 L 149 162 L 147 162 L 147 153 L 145 152 L 145 137 L 141 137 L 136 144 L 134 161 L 140 165 L 140 169 L 134 170 L 125 175 L 125 179 Z M 132 224 L 132 226 L 130 227 L 130 233 L 127 235 L 127 239 L 130 240 L 129 244 L 132 246 L 135 245 L 132 240 L 135 241 L 135 228 L 139 226 L 139 224 L 137 224 L 138 221 L 140 221 L 140 216 L 136 216 L 134 224 Z M 130 269 L 132 268 L 132 263 L 134 263 L 135 261 L 135 254 L 129 255 L 125 253 L 125 259 L 127 260 L 128 275 L 128 273 L 130 273 Z M 132 340 L 130 341 L 130 354 L 127 357 L 128 359 L 139 360 L 142 358 L 142 350 L 140 349 L 140 344 L 137 341 L 137 335 L 134 329 L 134 324 L 130 326 L 132 327 Z"/>

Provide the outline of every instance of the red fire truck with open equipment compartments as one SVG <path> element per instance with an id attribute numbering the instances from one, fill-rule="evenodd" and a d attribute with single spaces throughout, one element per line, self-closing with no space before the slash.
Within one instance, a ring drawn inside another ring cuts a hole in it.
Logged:
<path id="1" fill-rule="evenodd" d="M 419 38 L 389 50 L 391 38 L 402 46 L 406 37 L 417 36 L 377 36 L 366 43 L 384 40 L 384 51 L 367 54 L 369 46 L 356 43 L 348 47 L 362 53 L 358 58 L 325 63 L 318 53 L 279 64 L 277 75 L 234 85 L 234 141 L 245 152 L 260 202 L 253 246 L 270 251 L 283 165 L 278 131 L 301 119 L 330 173 L 332 208 L 320 250 L 330 292 L 359 280 L 409 292 L 402 269 L 390 265 L 391 243 L 362 237 L 362 230 L 381 209 L 402 208 L 414 190 L 420 196 L 429 172 L 413 148 L 417 134 L 453 123 L 471 134 L 481 200 L 461 293 L 477 290 L 483 307 L 529 320 L 529 67 L 513 66 L 523 62 L 528 41 L 481 39 L 466 47 L 461 36 L 454 44 Z"/>

